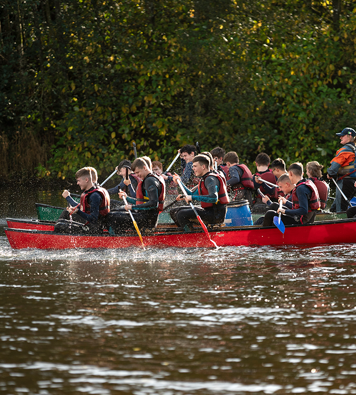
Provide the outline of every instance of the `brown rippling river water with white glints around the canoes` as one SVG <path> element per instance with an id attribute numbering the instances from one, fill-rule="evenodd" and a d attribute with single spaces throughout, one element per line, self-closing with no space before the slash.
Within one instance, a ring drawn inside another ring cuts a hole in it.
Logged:
<path id="1" fill-rule="evenodd" d="M 25 195 L 0 208 L 2 394 L 356 394 L 354 245 L 12 250 L 6 216 L 63 204 Z"/>

